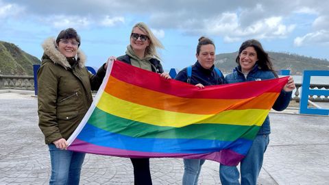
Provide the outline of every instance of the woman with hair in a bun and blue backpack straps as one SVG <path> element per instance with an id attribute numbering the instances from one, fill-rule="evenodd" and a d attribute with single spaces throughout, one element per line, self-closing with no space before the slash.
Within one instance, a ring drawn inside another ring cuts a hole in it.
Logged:
<path id="1" fill-rule="evenodd" d="M 199 88 L 225 84 L 225 79 L 221 71 L 214 65 L 215 44 L 212 40 L 205 37 L 199 38 L 195 56 L 197 57 L 197 62 L 193 66 L 182 69 L 175 79 L 193 84 Z M 190 70 L 191 72 L 188 72 Z M 205 160 L 200 159 L 184 159 L 183 185 L 197 184 L 204 162 Z"/>

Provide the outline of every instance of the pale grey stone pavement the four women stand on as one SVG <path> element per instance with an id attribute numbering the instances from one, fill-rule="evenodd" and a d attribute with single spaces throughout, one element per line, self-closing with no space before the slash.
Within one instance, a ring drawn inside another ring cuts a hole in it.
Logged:
<path id="1" fill-rule="evenodd" d="M 0 93 L 0 185 L 48 184 L 49 151 L 38 128 L 37 100 Z M 258 184 L 329 184 L 329 116 L 270 113 L 270 144 Z M 220 184 L 207 160 L 199 184 Z M 181 184 L 182 159 L 151 159 L 154 184 Z M 134 184 L 127 158 L 87 154 L 80 184 Z"/>

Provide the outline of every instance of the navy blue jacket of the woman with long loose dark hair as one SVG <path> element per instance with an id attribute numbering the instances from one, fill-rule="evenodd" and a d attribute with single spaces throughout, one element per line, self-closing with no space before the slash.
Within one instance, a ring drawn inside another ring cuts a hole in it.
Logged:
<path id="1" fill-rule="evenodd" d="M 256 64 L 252 71 L 250 71 L 247 75 L 247 78 L 245 78 L 245 75 L 241 72 L 241 66 L 236 66 L 233 73 L 230 73 L 229 75 L 226 75 L 226 82 L 228 84 L 237 83 L 237 82 L 248 82 L 248 81 L 259 81 L 264 79 L 273 79 L 276 78 L 272 71 L 263 71 L 258 68 L 258 65 Z M 276 102 L 273 105 L 273 109 L 277 111 L 282 111 L 287 108 L 289 105 L 290 99 L 291 99 L 292 92 L 286 92 L 284 90 L 281 90 L 281 93 L 276 99 Z M 261 134 L 270 134 L 271 133 L 271 127 L 269 125 L 269 115 L 267 115 L 262 127 L 260 127 L 260 130 L 258 131 L 258 135 Z"/>

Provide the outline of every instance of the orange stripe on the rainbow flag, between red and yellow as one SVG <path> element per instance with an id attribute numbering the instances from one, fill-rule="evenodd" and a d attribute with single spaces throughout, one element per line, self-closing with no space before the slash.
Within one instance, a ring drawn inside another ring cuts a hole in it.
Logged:
<path id="1" fill-rule="evenodd" d="M 249 99 L 193 99 L 160 93 L 147 88 L 127 84 L 110 77 L 105 88 L 106 93 L 132 103 L 189 114 L 218 114 L 223 110 L 271 109 L 271 99 L 278 93 L 264 93 Z M 165 102 L 165 103 L 164 103 Z"/>

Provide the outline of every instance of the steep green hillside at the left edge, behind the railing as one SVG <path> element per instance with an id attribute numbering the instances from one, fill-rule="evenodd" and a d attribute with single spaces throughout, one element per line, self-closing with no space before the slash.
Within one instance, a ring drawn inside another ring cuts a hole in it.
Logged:
<path id="1" fill-rule="evenodd" d="M 12 43 L 0 41 L 0 75 L 33 75 L 33 64 L 40 64 L 40 60 Z"/>

